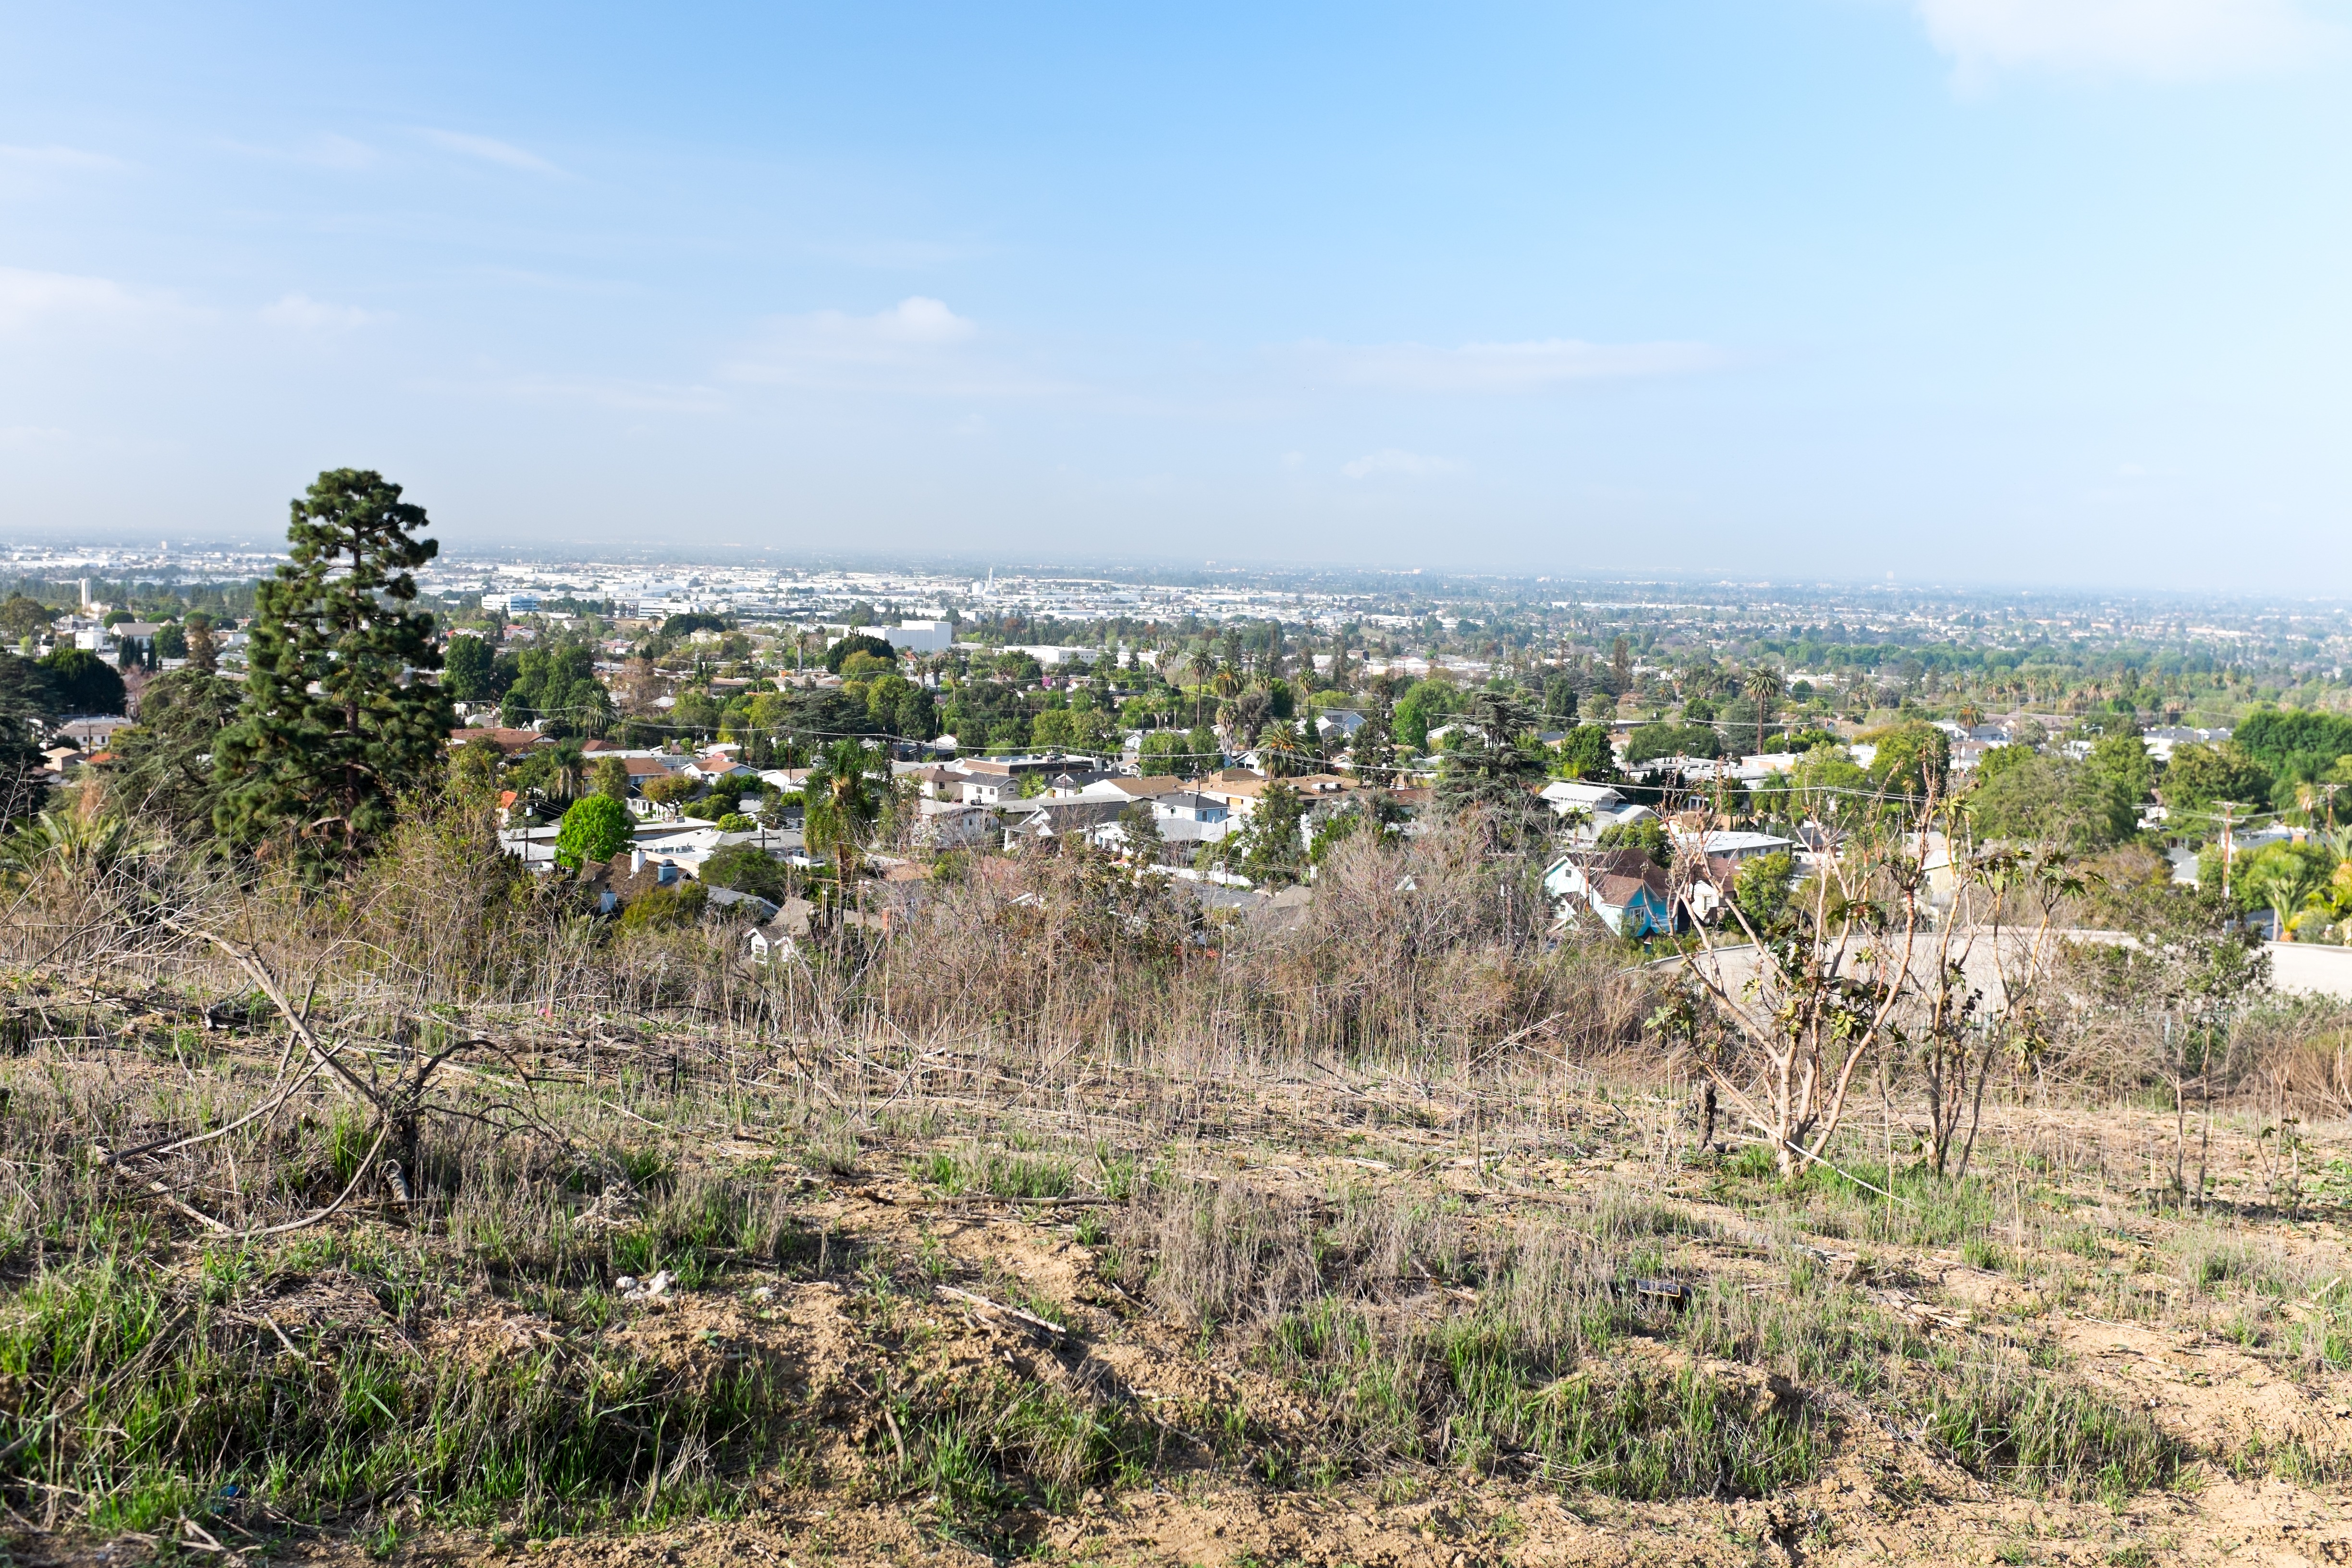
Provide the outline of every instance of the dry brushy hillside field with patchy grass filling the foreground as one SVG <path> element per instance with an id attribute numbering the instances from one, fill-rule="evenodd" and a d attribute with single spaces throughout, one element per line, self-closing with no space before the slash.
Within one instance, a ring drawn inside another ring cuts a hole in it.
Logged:
<path id="1" fill-rule="evenodd" d="M 1962 1182 L 1896 1072 L 1785 1182 L 1463 844 L 779 969 L 477 844 L 16 891 L 14 1561 L 2352 1559 L 2336 1018 L 2004 1079 Z"/>

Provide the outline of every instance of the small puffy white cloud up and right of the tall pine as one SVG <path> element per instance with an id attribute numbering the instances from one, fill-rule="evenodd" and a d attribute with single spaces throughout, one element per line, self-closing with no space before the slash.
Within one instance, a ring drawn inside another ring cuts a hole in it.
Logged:
<path id="1" fill-rule="evenodd" d="M 816 310 L 760 322 L 757 339 L 722 371 L 767 386 L 1007 397 L 1068 390 L 988 353 L 978 322 L 913 294 L 875 315 Z"/>

